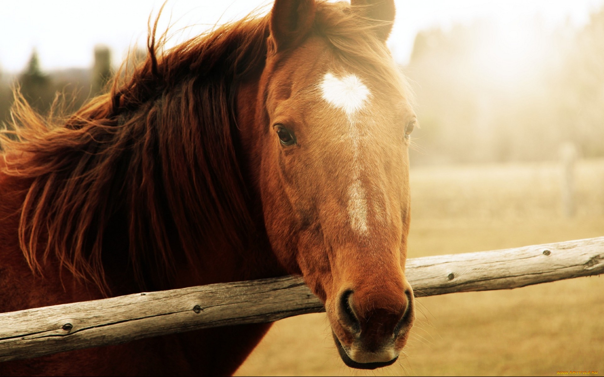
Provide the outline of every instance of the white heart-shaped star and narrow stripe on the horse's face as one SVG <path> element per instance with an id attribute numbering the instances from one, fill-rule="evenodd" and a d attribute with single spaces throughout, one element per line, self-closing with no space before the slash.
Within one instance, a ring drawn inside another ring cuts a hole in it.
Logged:
<path id="1" fill-rule="evenodd" d="M 359 163 L 359 128 L 356 125 L 356 113 L 365 107 L 371 92 L 356 75 L 349 74 L 342 78 L 331 73 L 325 74 L 321 83 L 323 99 L 346 114 L 349 121 L 348 137 L 353 143 L 353 177 L 348 189 L 348 214 L 350 226 L 358 233 L 367 232 L 367 198 L 365 189 L 359 179 L 361 164 Z"/>

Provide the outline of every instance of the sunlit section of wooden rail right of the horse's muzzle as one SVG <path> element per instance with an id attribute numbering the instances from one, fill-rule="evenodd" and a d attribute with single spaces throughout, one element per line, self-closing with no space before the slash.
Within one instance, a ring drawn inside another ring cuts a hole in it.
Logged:
<path id="1" fill-rule="evenodd" d="M 604 273 L 604 237 L 408 259 L 406 277 L 416 297 L 509 290 Z"/>

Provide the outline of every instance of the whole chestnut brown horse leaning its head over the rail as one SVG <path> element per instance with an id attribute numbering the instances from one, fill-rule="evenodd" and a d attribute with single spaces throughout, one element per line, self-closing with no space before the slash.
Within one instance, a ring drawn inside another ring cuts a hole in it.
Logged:
<path id="1" fill-rule="evenodd" d="M 415 117 L 393 0 L 277 0 L 149 56 L 74 115 L 19 97 L 0 164 L 0 310 L 301 274 L 344 363 L 397 360 Z M 225 375 L 270 325 L 0 364 L 0 375 Z"/>

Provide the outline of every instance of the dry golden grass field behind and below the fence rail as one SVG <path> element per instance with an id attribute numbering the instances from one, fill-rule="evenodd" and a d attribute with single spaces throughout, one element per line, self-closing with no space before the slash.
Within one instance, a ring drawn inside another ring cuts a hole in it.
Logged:
<path id="1" fill-rule="evenodd" d="M 554 163 L 412 169 L 411 258 L 604 235 L 604 160 L 576 169 L 576 216 L 562 217 Z M 391 367 L 344 366 L 324 314 L 281 320 L 238 376 L 604 374 L 604 276 L 417 300 Z"/>

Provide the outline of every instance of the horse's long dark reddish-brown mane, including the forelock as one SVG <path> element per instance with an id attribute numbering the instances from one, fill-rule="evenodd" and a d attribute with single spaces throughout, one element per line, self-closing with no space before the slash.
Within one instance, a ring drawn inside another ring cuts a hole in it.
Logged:
<path id="1" fill-rule="evenodd" d="M 315 32 L 342 60 L 399 80 L 384 43 L 371 37 L 374 24 L 363 20 L 348 5 L 321 2 Z M 67 117 L 44 118 L 16 92 L 14 130 L 0 133 L 0 173 L 28 185 L 18 233 L 32 270 L 54 253 L 106 292 L 101 250 L 116 231 L 127 235 L 143 281 L 148 268 L 169 277 L 175 260 L 198 265 L 204 247 L 245 247 L 254 216 L 234 101 L 237 83 L 262 72 L 269 21 L 246 17 L 163 53 L 156 21 L 146 60 Z"/>

